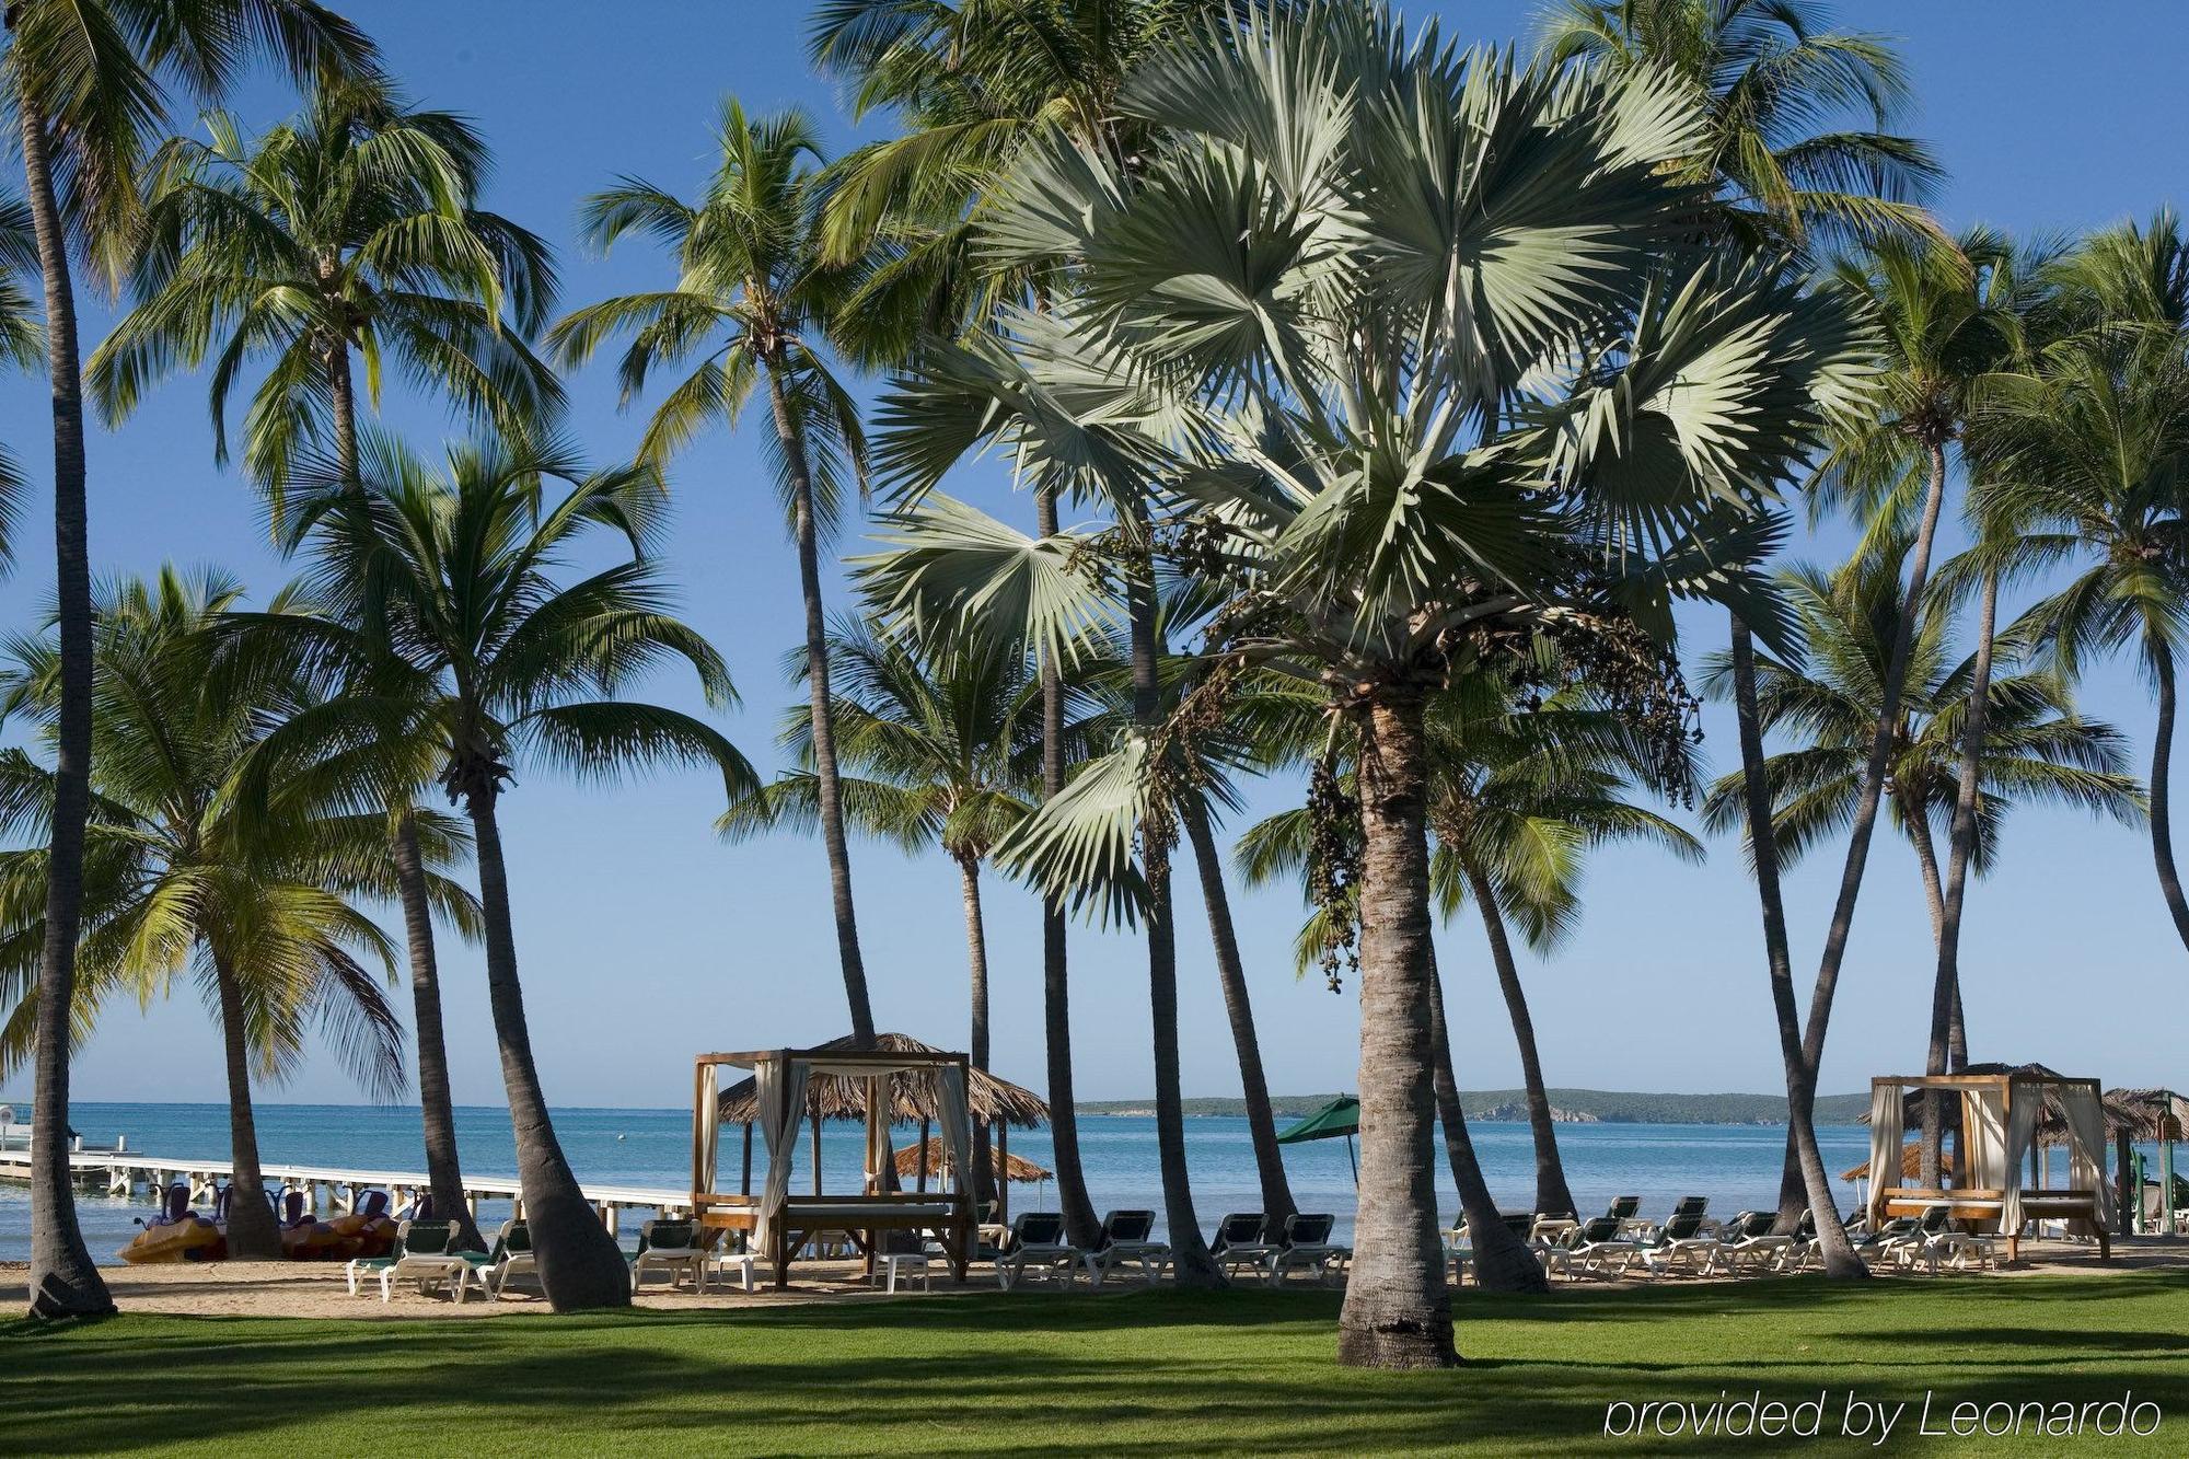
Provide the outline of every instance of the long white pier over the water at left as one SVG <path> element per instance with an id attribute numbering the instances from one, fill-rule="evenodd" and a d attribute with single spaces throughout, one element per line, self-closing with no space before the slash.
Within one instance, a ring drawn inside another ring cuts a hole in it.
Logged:
<path id="1" fill-rule="evenodd" d="M 123 1141 L 127 1144 L 127 1141 Z M 129 1200 L 144 1190 L 151 1200 L 160 1192 L 182 1181 L 190 1187 L 190 1203 L 210 1203 L 212 1194 L 234 1174 L 230 1161 L 175 1159 L 140 1154 L 127 1148 L 72 1150 L 68 1157 L 79 1190 Z M 260 1161 L 260 1179 L 267 1190 L 289 1185 L 304 1192 L 304 1205 L 317 1216 L 348 1216 L 368 1190 L 385 1190 L 396 1207 L 412 1203 L 418 1192 L 431 1187 L 425 1174 L 414 1170 L 333 1170 L 326 1165 L 280 1165 Z M 28 1183 L 31 1152 L 0 1148 L 0 1181 Z M 580 1185 L 584 1198 L 600 1211 L 602 1225 L 611 1231 L 622 1227 L 624 1211 L 657 1211 L 661 1216 L 690 1216 L 692 1192 L 687 1190 L 641 1190 L 637 1185 Z M 473 1218 L 482 1200 L 508 1200 L 517 1216 L 523 1216 L 523 1190 L 514 1176 L 464 1176 L 464 1203 Z"/>

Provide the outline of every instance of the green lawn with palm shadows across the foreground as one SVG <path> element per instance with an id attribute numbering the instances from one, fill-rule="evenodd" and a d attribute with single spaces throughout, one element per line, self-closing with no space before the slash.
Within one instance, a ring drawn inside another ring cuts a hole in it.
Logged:
<path id="1" fill-rule="evenodd" d="M 1333 1363 L 1337 1297 L 976 1295 L 493 1321 L 120 1317 L 0 1336 L 7 1452 L 1753 1452 L 1605 1439 L 1611 1400 L 2093 1402 L 2189 1452 L 2189 1273 L 1464 1295 L 1449 1374 Z M 1924 1452 L 2058 1452 L 2058 1437 Z"/>

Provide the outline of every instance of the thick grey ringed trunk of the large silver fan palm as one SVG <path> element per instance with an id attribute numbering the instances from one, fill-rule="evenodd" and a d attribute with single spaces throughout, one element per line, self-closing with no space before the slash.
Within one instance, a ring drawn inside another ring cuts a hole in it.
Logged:
<path id="1" fill-rule="evenodd" d="M 1357 712 L 1362 800 L 1362 1190 L 1337 1314 L 1346 1367 L 1451 1367 L 1451 1293 L 1429 1179 L 1429 837 L 1421 692 Z"/>

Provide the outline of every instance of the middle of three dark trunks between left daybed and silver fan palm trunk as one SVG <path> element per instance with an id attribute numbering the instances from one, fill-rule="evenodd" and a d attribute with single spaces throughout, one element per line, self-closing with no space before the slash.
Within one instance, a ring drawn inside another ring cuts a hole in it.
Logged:
<path id="1" fill-rule="evenodd" d="M 1147 541 L 1147 521 L 1138 521 Z M 1132 620 L 1132 719 L 1143 734 L 1154 734 L 1162 719 L 1156 686 L 1156 574 L 1154 556 L 1143 545 L 1127 583 Z M 1162 1165 L 1162 1218 L 1169 1227 L 1171 1260 L 1180 1286 L 1224 1286 L 1202 1222 L 1193 1214 L 1193 1181 L 1186 1170 L 1186 1111 L 1178 1089 L 1178 929 L 1171 920 L 1171 846 L 1169 828 L 1140 828 L 1140 872 L 1147 878 L 1147 1003 L 1156 1041 L 1156 1150 Z"/>

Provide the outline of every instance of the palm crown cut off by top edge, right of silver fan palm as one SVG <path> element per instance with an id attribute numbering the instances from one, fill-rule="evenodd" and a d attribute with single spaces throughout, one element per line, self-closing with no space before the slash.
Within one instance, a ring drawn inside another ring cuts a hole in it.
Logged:
<path id="1" fill-rule="evenodd" d="M 1554 64 L 1679 77 L 1710 118 L 1686 166 L 1721 186 L 1745 239 L 1935 234 L 1920 204 L 1944 169 L 1889 131 L 1907 68 L 1889 37 L 1828 26 L 1812 0 L 1559 0 L 1539 46 Z"/>

